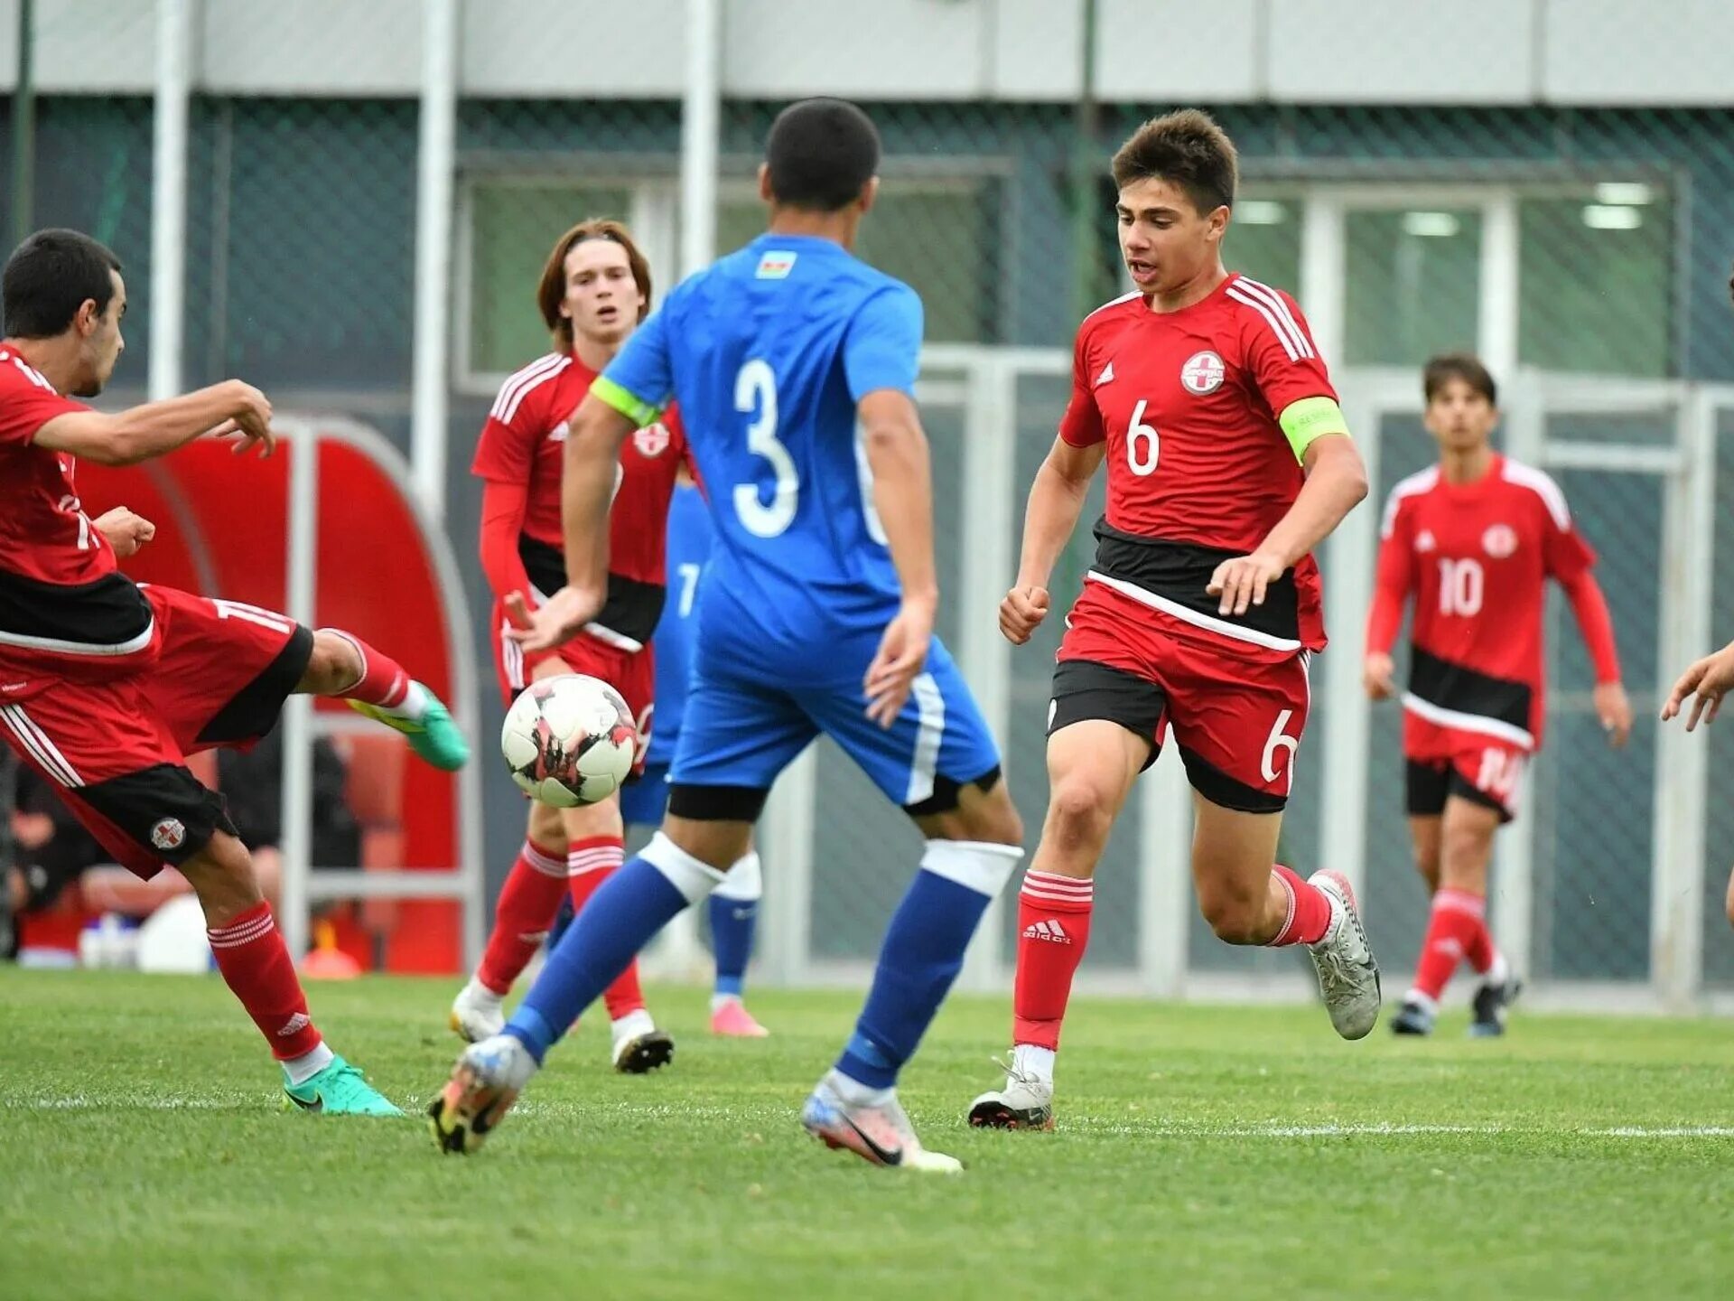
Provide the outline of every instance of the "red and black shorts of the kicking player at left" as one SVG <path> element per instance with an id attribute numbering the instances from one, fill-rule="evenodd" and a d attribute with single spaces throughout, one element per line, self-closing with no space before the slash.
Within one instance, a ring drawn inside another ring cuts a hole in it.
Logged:
<path id="1" fill-rule="evenodd" d="M 314 637 L 284 614 L 165 586 L 142 588 L 153 654 L 134 668 L 69 680 L 62 661 L 9 650 L 0 661 L 0 737 L 40 772 L 114 860 L 151 878 L 217 831 L 222 796 L 182 762 L 269 732 L 300 683 Z"/>

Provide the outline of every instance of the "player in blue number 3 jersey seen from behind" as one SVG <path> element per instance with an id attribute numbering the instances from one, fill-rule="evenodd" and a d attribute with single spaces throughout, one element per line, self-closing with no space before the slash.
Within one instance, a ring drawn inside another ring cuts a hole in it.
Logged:
<path id="1" fill-rule="evenodd" d="M 759 168 L 770 231 L 687 279 L 591 385 L 567 444 L 567 586 L 525 645 L 602 600 L 616 448 L 673 396 L 716 552 L 662 831 L 596 892 L 503 1036 L 434 1102 L 447 1150 L 499 1122 L 555 1041 L 676 912 L 746 852 L 777 774 L 820 734 L 928 836 L 867 1006 L 801 1121 L 874 1164 L 955 1171 L 922 1148 L 896 1079 L 1016 862 L 999 751 L 933 637 L 928 442 L 910 397 L 921 300 L 850 248 L 877 193 L 879 134 L 838 99 L 779 114 Z M 870 475 L 862 465 L 870 467 Z"/>

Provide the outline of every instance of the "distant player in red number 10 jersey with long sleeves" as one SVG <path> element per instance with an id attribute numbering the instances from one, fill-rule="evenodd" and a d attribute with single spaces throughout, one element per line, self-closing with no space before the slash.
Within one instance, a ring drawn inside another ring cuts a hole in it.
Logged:
<path id="1" fill-rule="evenodd" d="M 1632 732 L 1607 602 L 1590 572 L 1595 552 L 1566 496 L 1542 470 L 1493 451 L 1500 420 L 1493 376 L 1469 354 L 1422 373 L 1427 432 L 1439 463 L 1385 501 L 1379 586 L 1366 618 L 1366 694 L 1396 694 L 1391 645 L 1415 597 L 1403 756 L 1415 867 L 1432 918 L 1415 984 L 1392 1018 L 1398 1034 L 1431 1034 L 1458 959 L 1481 977 L 1472 1036 L 1505 1032 L 1522 987 L 1486 923 L 1493 833 L 1517 815 L 1529 756 L 1542 746 L 1542 598 L 1564 588 L 1595 664 L 1595 715 L 1614 748 Z"/>

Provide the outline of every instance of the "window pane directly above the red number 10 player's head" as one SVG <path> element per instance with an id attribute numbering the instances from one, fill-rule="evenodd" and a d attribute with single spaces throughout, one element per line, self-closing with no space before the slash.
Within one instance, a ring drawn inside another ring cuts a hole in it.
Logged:
<path id="1" fill-rule="evenodd" d="M 1476 347 L 1477 210 L 1351 210 L 1344 239 L 1346 363 L 1418 366 L 1436 352 Z"/>

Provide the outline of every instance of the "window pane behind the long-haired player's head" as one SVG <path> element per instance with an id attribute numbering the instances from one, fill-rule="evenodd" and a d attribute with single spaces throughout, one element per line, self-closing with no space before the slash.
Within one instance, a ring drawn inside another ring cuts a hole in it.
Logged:
<path id="1" fill-rule="evenodd" d="M 536 283 L 548 250 L 586 217 L 629 215 L 626 184 L 482 180 L 470 191 L 472 375 L 505 375 L 548 350 Z"/>

